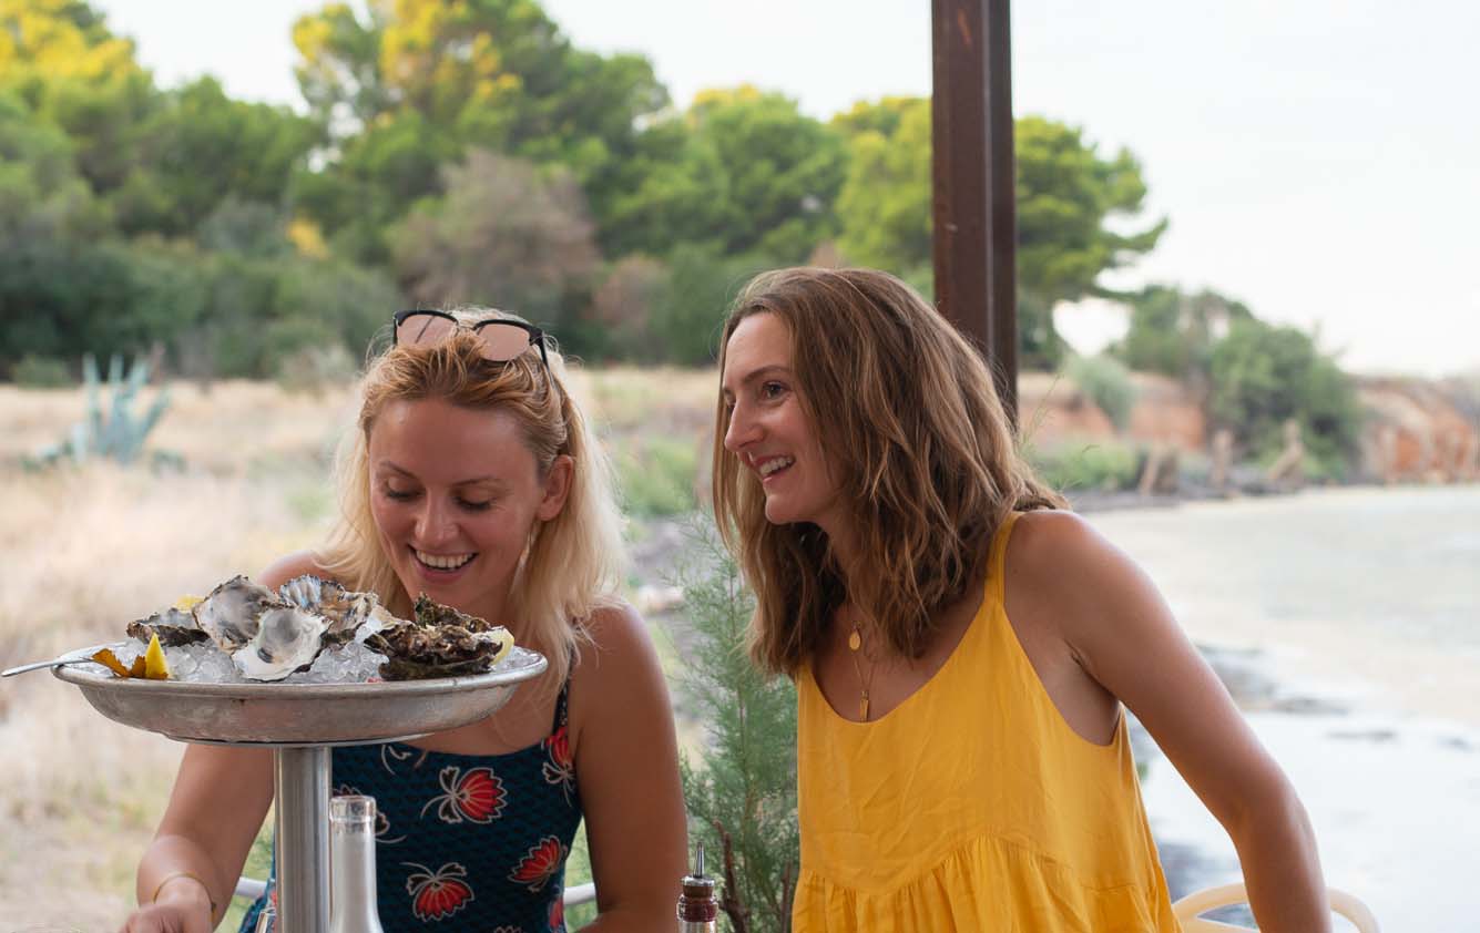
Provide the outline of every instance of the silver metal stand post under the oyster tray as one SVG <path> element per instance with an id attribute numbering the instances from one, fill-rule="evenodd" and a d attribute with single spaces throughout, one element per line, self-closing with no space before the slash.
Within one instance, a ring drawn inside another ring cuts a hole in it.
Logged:
<path id="1" fill-rule="evenodd" d="M 329 770 L 324 745 L 272 750 L 278 933 L 329 932 Z"/>

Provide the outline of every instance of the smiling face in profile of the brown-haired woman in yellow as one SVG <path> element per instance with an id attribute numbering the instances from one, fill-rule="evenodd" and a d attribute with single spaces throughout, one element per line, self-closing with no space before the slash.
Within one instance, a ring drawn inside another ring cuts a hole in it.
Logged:
<path id="1" fill-rule="evenodd" d="M 730 410 L 725 449 L 759 478 L 767 520 L 811 522 L 836 537 L 838 488 L 798 395 L 792 334 L 780 318 L 758 313 L 734 328 L 721 390 Z"/>

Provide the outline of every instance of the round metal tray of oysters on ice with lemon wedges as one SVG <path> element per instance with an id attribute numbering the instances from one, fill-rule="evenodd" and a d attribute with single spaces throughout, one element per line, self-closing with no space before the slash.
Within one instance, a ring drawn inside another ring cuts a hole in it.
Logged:
<path id="1" fill-rule="evenodd" d="M 53 674 L 126 726 L 290 747 L 453 729 L 490 716 L 546 668 L 502 625 L 425 596 L 414 617 L 317 577 L 278 590 L 234 577 L 203 600 L 130 622 L 126 642 L 68 652 Z"/>

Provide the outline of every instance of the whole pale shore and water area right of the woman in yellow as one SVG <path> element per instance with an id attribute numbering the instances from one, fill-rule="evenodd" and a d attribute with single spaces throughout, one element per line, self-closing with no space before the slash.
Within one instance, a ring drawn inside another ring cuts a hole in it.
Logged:
<path id="1" fill-rule="evenodd" d="M 1088 518 L 1141 563 L 1384 929 L 1470 929 L 1480 871 L 1480 485 L 1339 486 Z M 1172 896 L 1237 852 L 1132 723 Z M 1251 923 L 1246 911 L 1220 920 Z"/>

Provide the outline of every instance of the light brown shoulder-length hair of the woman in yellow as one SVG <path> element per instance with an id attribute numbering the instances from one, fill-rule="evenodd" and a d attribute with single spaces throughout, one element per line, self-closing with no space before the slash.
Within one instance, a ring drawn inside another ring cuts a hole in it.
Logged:
<path id="1" fill-rule="evenodd" d="M 827 537 L 773 525 L 753 472 L 724 447 L 715 414 L 713 507 L 756 594 L 747 648 L 795 677 L 845 599 L 900 657 L 924 654 L 938 612 L 981 580 L 992 535 L 1014 510 L 1067 509 L 1018 455 L 981 355 L 900 279 L 873 269 L 780 269 L 746 285 L 725 321 L 773 313 L 792 336 L 798 396 L 861 559 L 847 590 Z M 826 413 L 826 417 L 820 417 Z"/>

